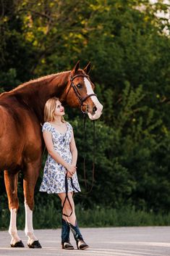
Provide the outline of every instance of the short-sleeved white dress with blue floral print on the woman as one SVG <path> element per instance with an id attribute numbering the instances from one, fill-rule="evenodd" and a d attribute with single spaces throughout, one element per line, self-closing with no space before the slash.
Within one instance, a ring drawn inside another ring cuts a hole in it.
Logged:
<path id="1" fill-rule="evenodd" d="M 69 164 L 72 163 L 72 153 L 70 152 L 69 143 L 72 139 L 72 125 L 67 124 L 66 133 L 59 133 L 56 131 L 51 123 L 44 123 L 42 131 L 50 131 L 52 136 L 52 141 L 54 144 L 54 150 Z M 48 194 L 59 194 L 65 193 L 65 175 L 67 173 L 66 168 L 59 164 L 48 154 L 46 164 L 43 170 L 43 181 L 41 183 L 40 191 L 47 192 Z M 77 173 L 72 176 L 72 186 L 71 178 L 67 178 L 68 181 L 68 192 L 80 191 L 80 185 L 77 179 Z M 75 189 L 76 188 L 76 189 Z"/>

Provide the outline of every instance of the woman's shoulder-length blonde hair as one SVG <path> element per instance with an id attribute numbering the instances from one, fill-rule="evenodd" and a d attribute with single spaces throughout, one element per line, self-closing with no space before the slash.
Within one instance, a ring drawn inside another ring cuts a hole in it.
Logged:
<path id="1" fill-rule="evenodd" d="M 59 98 L 53 97 L 48 99 L 44 107 L 44 122 L 54 121 L 54 112 L 56 109 L 56 102 L 59 101 Z M 64 117 L 61 117 L 61 121 L 64 123 Z"/>

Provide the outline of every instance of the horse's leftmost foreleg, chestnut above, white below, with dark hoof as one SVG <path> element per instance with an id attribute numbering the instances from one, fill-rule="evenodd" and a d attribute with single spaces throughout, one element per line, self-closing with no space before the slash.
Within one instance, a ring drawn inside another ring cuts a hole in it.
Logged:
<path id="1" fill-rule="evenodd" d="M 4 181 L 7 190 L 9 210 L 11 212 L 9 234 L 12 236 L 11 246 L 12 247 L 24 247 L 20 237 L 17 234 L 17 210 L 19 207 L 17 197 L 17 179 L 18 174 L 9 173 L 8 170 L 4 171 Z"/>

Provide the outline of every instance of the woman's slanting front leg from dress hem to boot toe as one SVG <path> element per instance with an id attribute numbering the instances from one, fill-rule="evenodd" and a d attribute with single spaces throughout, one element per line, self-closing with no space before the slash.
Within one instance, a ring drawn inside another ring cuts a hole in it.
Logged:
<path id="1" fill-rule="evenodd" d="M 65 193 L 62 193 L 59 196 L 61 198 L 61 205 L 63 205 L 63 203 L 64 203 L 65 196 L 66 196 Z M 77 249 L 86 249 L 86 248 L 88 248 L 88 244 L 85 243 L 85 241 L 82 238 L 82 234 L 80 233 L 80 229 L 79 229 L 79 226 L 78 226 L 78 223 L 76 220 L 75 203 L 74 203 L 74 200 L 72 197 L 72 193 L 68 193 L 68 197 L 69 197 L 69 201 L 66 200 L 66 202 L 64 203 L 63 212 L 64 212 L 64 214 L 66 214 L 68 216 L 72 212 L 72 215 L 70 217 L 67 217 L 67 221 L 68 221 L 68 224 L 69 224 L 69 226 L 72 230 L 72 233 L 75 237 L 75 240 L 77 243 Z"/>

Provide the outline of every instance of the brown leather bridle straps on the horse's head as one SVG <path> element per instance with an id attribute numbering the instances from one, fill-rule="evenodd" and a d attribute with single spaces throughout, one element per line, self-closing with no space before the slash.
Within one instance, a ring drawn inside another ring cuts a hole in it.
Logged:
<path id="1" fill-rule="evenodd" d="M 86 104 L 87 107 L 86 107 L 86 111 L 84 112 L 84 111 L 82 110 L 83 102 L 85 102 L 85 100 L 88 99 L 90 96 L 97 96 L 97 95 L 96 95 L 96 94 L 88 94 L 87 96 L 85 96 L 85 97 L 82 98 L 80 92 L 77 90 L 77 87 L 76 87 L 75 84 L 73 83 L 73 80 L 74 80 L 75 78 L 77 78 L 77 77 L 80 77 L 80 76 L 82 76 L 82 77 L 84 77 L 84 78 L 89 78 L 88 75 L 83 75 L 83 74 L 75 75 L 75 76 L 73 76 L 73 77 L 70 75 L 70 82 L 71 82 L 71 84 L 70 84 L 70 86 L 69 86 L 69 90 L 70 90 L 70 88 L 73 88 L 73 90 L 75 91 L 75 95 L 77 96 L 77 99 L 78 99 L 79 102 L 80 102 L 81 111 L 82 111 L 84 114 L 86 114 L 86 113 L 88 112 L 88 104 Z M 69 93 L 69 90 L 67 91 L 67 94 Z M 66 98 L 67 98 L 67 96 L 66 96 Z"/>

